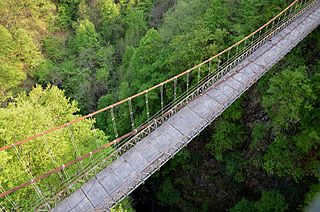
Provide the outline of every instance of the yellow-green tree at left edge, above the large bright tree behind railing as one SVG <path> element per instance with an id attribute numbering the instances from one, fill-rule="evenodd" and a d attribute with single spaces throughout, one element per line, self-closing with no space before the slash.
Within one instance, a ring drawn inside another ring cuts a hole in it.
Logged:
<path id="1" fill-rule="evenodd" d="M 0 25 L 0 101 L 12 97 L 28 74 L 42 60 L 38 47 L 29 33 L 18 29 L 12 36 L 9 30 Z"/>

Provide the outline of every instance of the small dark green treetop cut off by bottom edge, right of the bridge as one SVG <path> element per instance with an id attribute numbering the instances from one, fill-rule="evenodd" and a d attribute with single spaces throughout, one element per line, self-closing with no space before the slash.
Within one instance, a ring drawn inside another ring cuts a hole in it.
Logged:
<path id="1" fill-rule="evenodd" d="M 288 210 L 285 198 L 278 191 L 263 191 L 259 201 L 255 203 L 259 212 L 283 212 Z"/>

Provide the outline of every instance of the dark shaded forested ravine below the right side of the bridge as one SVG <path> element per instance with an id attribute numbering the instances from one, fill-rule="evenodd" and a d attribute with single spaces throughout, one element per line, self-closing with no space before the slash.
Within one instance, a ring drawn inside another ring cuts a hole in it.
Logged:
<path id="1" fill-rule="evenodd" d="M 320 97 L 319 36 L 317 29 L 135 190 L 134 207 L 138 211 L 302 210 L 305 198 L 319 191 L 315 135 L 320 124 L 315 112 Z M 316 149 L 299 151 L 313 149 L 304 146 L 312 141 Z M 315 167 L 308 167 L 312 160 Z M 307 194 L 310 187 L 313 190 Z"/>

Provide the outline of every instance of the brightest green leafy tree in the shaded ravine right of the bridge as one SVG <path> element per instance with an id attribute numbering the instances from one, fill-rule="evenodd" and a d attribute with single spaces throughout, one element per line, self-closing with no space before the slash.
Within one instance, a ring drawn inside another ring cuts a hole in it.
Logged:
<path id="1" fill-rule="evenodd" d="M 302 66 L 296 70 L 286 69 L 270 79 L 263 106 L 273 119 L 274 128 L 279 131 L 299 122 L 302 111 L 312 109 L 314 98 L 306 67 Z"/>

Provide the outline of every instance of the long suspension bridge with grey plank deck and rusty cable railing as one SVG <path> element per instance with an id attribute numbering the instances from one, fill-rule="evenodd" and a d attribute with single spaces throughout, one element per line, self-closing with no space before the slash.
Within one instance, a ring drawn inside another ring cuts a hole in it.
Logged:
<path id="1" fill-rule="evenodd" d="M 295 0 L 255 32 L 201 64 L 99 111 L 1 147 L 0 153 L 11 151 L 24 164 L 19 154 L 24 145 L 35 141 L 47 144 L 46 136 L 101 114 L 109 117 L 107 129 L 113 138 L 36 176 L 24 166 L 29 181 L 11 187 L 0 182 L 2 210 L 109 210 L 312 32 L 320 24 L 319 4 L 319 0 Z M 119 123 L 129 127 L 121 130 Z M 54 175 L 67 177 L 59 186 L 47 185 Z M 19 205 L 16 195 L 24 191 L 34 192 L 35 202 Z"/>

